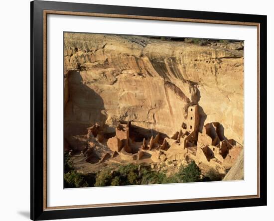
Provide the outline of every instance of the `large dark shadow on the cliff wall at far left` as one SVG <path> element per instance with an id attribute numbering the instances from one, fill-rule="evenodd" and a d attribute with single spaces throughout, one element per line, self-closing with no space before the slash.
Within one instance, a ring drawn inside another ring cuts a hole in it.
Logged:
<path id="1" fill-rule="evenodd" d="M 107 116 L 102 113 L 103 99 L 84 84 L 79 71 L 70 71 L 66 77 L 69 99 L 64 110 L 64 135 L 70 148 L 78 149 L 79 145 L 86 144 L 87 128 L 96 122 L 104 126 Z"/>

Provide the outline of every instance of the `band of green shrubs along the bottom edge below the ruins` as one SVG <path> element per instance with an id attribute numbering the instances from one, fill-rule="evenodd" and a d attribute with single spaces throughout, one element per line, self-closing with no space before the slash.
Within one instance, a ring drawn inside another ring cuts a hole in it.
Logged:
<path id="1" fill-rule="evenodd" d="M 187 166 L 181 166 L 179 171 L 171 176 L 151 170 L 149 166 L 139 167 L 136 164 L 105 167 L 97 173 L 81 174 L 73 168 L 68 155 L 65 155 L 64 171 L 65 188 L 219 181 L 223 178 L 213 170 L 205 176 L 202 175 L 194 161 Z"/>

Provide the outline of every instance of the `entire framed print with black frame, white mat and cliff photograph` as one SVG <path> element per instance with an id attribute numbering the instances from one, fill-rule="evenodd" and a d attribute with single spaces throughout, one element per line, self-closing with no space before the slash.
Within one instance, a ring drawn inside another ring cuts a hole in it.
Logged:
<path id="1" fill-rule="evenodd" d="M 267 205 L 267 16 L 30 6 L 32 220 Z"/>

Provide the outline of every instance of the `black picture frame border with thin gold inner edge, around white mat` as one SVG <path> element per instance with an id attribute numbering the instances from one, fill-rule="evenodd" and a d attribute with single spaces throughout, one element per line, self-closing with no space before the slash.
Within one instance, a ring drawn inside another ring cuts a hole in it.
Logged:
<path id="1" fill-rule="evenodd" d="M 152 16 L 165 18 L 184 18 L 197 20 L 218 20 L 232 22 L 254 22 L 259 24 L 260 68 L 259 68 L 259 103 L 260 103 L 260 196 L 249 199 L 231 199 L 218 201 L 193 201 L 182 203 L 161 203 L 148 205 L 126 205 L 115 207 L 76 208 L 47 210 L 44 206 L 46 185 L 44 180 L 45 155 L 44 146 L 44 66 L 43 66 L 43 16 L 44 10 L 92 12 L 103 14 Z M 191 210 L 207 210 L 220 208 L 255 207 L 267 205 L 267 16 L 252 14 L 236 14 L 206 11 L 190 11 L 177 9 L 160 9 L 145 7 L 129 7 L 84 3 L 68 3 L 54 1 L 30 2 L 31 11 L 31 220 L 53 220 L 99 216 L 130 215 L 144 213 L 176 212 Z"/>

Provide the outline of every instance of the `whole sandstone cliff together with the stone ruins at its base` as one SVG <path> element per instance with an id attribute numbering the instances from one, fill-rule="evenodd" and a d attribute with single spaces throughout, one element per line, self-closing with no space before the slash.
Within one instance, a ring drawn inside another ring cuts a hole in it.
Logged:
<path id="1" fill-rule="evenodd" d="M 64 33 L 64 147 L 75 168 L 194 160 L 226 173 L 243 152 L 243 46 Z"/>

